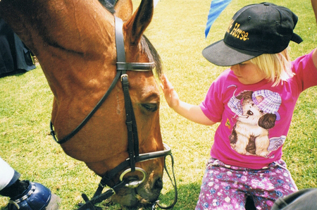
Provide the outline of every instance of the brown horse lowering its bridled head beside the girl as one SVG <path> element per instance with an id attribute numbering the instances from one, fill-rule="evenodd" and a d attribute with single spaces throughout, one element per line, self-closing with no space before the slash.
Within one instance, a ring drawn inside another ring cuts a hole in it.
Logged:
<path id="1" fill-rule="evenodd" d="M 143 32 L 151 22 L 153 1 L 142 0 L 132 14 L 131 0 L 118 0 L 114 15 L 123 20 L 128 62 L 161 63 Z M 0 16 L 37 56 L 54 94 L 51 121 L 58 139 L 79 125 L 103 97 L 116 75 L 113 12 L 97 0 L 0 0 Z M 128 72 L 139 153 L 163 150 L 159 126 L 159 87 L 152 71 Z M 104 175 L 128 158 L 125 102 L 116 84 L 87 124 L 61 144 L 69 156 Z M 136 163 L 147 176 L 135 189 L 124 187 L 112 199 L 125 206 L 154 202 L 162 188 L 163 158 Z M 120 174 L 107 185 L 113 185 Z M 138 171 L 127 176 L 142 179 Z"/>

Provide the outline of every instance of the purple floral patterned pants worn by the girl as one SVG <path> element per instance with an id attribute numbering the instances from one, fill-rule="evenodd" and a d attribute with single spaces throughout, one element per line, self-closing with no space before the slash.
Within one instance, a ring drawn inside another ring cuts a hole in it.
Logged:
<path id="1" fill-rule="evenodd" d="M 228 166 L 211 158 L 202 180 L 196 210 L 244 209 L 248 195 L 254 200 L 256 209 L 269 210 L 276 199 L 297 190 L 282 160 L 254 170 Z"/>

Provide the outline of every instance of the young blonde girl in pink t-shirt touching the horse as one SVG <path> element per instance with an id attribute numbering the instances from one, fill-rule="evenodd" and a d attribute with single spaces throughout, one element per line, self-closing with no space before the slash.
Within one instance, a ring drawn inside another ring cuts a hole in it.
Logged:
<path id="1" fill-rule="evenodd" d="M 196 123 L 220 123 L 197 210 L 244 209 L 248 195 L 256 209 L 271 209 L 276 199 L 297 191 L 281 159 L 282 145 L 299 94 L 317 85 L 317 52 L 290 61 L 289 42 L 302 42 L 293 32 L 296 23 L 292 11 L 275 4 L 238 11 L 224 39 L 203 51 L 208 61 L 230 69 L 199 106 L 180 101 L 163 75 L 161 87 L 172 109 Z"/>

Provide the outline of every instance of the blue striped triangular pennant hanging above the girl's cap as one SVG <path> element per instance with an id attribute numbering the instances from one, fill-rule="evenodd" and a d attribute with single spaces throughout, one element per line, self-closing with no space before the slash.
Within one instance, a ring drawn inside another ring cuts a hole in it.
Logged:
<path id="1" fill-rule="evenodd" d="M 211 6 L 208 14 L 208 19 L 205 29 L 205 37 L 207 37 L 211 25 L 220 16 L 220 13 L 230 4 L 232 0 L 213 0 L 211 1 Z"/>

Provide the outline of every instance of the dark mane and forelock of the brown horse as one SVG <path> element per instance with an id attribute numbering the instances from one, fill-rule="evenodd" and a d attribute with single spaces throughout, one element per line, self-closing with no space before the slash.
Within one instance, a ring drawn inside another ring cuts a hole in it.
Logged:
<path id="1" fill-rule="evenodd" d="M 109 12 L 114 14 L 116 11 L 114 10 L 113 4 L 109 3 L 107 0 L 99 0 L 100 4 L 104 6 Z M 149 58 L 149 62 L 154 62 L 155 70 L 156 70 L 156 75 L 161 78 L 162 74 L 162 63 L 161 63 L 161 58 L 154 48 L 153 44 L 147 39 L 145 35 L 142 35 L 141 38 L 141 46 L 142 50 L 144 51 L 145 54 L 147 54 L 147 57 Z"/>

